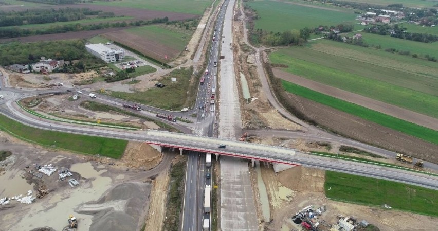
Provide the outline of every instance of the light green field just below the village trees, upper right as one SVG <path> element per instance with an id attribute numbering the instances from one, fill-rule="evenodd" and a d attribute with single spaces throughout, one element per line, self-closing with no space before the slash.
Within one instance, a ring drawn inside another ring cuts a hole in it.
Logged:
<path id="1" fill-rule="evenodd" d="M 411 54 L 418 54 L 418 55 L 429 55 L 434 56 L 438 58 L 438 42 L 434 43 L 422 43 L 422 42 L 415 42 L 411 40 L 406 39 L 398 39 L 390 37 L 389 35 L 379 35 L 379 34 L 372 34 L 372 33 L 361 33 L 362 34 L 362 40 L 369 45 L 380 45 L 382 50 L 385 50 L 387 48 L 394 48 L 397 50 L 403 50 L 403 51 L 410 51 Z M 353 35 L 352 33 L 349 34 L 350 36 Z"/>

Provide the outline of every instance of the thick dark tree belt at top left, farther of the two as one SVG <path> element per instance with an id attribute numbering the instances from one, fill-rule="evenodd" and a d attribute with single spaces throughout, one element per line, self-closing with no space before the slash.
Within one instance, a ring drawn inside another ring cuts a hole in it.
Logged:
<path id="1" fill-rule="evenodd" d="M 27 9 L 25 11 L 0 11 L 0 27 L 69 22 L 86 19 L 90 15 L 113 15 L 113 12 L 94 11 L 89 8 Z"/>

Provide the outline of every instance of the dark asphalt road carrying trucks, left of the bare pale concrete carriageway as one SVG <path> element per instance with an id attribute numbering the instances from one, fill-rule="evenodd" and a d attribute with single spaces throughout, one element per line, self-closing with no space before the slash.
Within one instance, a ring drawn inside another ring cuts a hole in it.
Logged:
<path id="1" fill-rule="evenodd" d="M 219 49 L 217 38 L 219 37 L 220 28 L 224 20 L 224 5 L 221 7 L 217 16 L 217 23 L 214 25 L 216 41 L 211 42 L 210 57 L 208 58 L 209 60 L 206 67 L 206 69 L 209 70 L 209 75 L 204 75 L 204 84 L 199 83 L 195 107 L 188 112 L 196 113 L 196 124 L 193 133 L 199 136 L 212 137 L 214 134 L 215 106 L 210 103 L 210 97 L 211 88 L 216 87 L 217 68 L 214 67 L 214 61 L 217 61 L 218 58 Z M 205 34 L 208 34 L 207 31 L 211 29 L 212 22 L 209 22 L 207 25 Z M 208 45 L 210 39 L 210 37 L 202 39 L 205 44 L 200 46 L 201 49 L 204 45 Z M 202 70 L 202 74 L 205 74 L 205 70 Z M 203 109 L 199 109 L 200 106 L 203 106 Z M 202 116 L 203 114 L 204 117 Z M 204 213 L 205 185 L 211 185 L 211 179 L 205 178 L 206 172 L 212 171 L 210 167 L 205 166 L 205 152 L 190 151 L 187 161 L 181 230 L 202 230 L 202 221 L 204 219 L 211 221 L 210 214 Z"/>

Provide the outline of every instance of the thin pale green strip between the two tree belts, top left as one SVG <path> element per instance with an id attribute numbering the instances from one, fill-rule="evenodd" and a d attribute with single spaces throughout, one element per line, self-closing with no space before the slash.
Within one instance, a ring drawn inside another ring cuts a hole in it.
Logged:
<path id="1" fill-rule="evenodd" d="M 18 28 L 18 29 L 43 29 L 47 27 L 54 27 L 54 26 L 63 26 L 63 25 L 75 25 L 75 24 L 99 24 L 99 23 L 105 23 L 105 22 L 115 22 L 115 21 L 128 21 L 132 20 L 134 17 L 105 17 L 105 18 L 95 18 L 95 19 L 83 19 L 83 20 L 77 20 L 77 21 L 69 21 L 69 22 L 56 22 L 56 23 L 44 23 L 44 24 L 29 24 L 29 25 L 22 25 L 22 26 L 5 26 L 2 28 Z"/>

